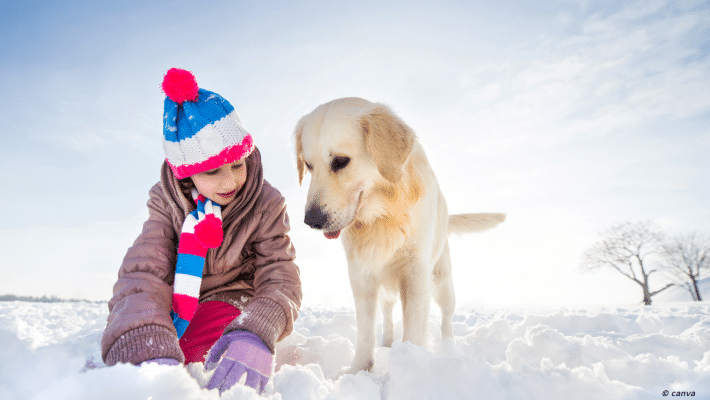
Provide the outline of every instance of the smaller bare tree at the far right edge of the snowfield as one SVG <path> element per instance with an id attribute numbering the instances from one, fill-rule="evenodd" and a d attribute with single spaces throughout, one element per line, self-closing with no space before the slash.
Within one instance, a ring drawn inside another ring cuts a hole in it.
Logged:
<path id="1" fill-rule="evenodd" d="M 698 288 L 701 275 L 710 272 L 710 238 L 698 233 L 677 236 L 663 245 L 664 268 L 695 301 L 703 301 Z"/>

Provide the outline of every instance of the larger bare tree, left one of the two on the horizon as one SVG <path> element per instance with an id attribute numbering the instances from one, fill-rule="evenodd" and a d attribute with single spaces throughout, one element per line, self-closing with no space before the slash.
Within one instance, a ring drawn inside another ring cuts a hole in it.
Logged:
<path id="1" fill-rule="evenodd" d="M 653 296 L 674 285 L 669 283 L 656 291 L 649 287 L 649 277 L 658 271 L 653 268 L 654 259 L 662 253 L 664 239 L 650 221 L 615 225 L 601 236 L 601 241 L 584 252 L 582 270 L 616 270 L 641 286 L 645 305 L 651 305 Z"/>

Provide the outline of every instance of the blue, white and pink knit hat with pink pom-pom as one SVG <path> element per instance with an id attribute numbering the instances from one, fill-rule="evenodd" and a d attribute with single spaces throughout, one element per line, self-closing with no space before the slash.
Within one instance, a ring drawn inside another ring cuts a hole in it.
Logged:
<path id="1" fill-rule="evenodd" d="M 200 89 L 195 76 L 171 68 L 163 78 L 163 148 L 177 179 L 219 168 L 254 150 L 237 112 L 217 93 Z"/>

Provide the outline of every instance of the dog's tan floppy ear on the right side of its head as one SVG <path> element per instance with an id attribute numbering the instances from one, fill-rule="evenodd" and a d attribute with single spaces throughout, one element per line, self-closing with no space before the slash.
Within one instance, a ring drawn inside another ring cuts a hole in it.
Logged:
<path id="1" fill-rule="evenodd" d="M 414 145 L 414 131 L 387 106 L 374 104 L 360 118 L 365 148 L 385 179 L 397 182 Z"/>

